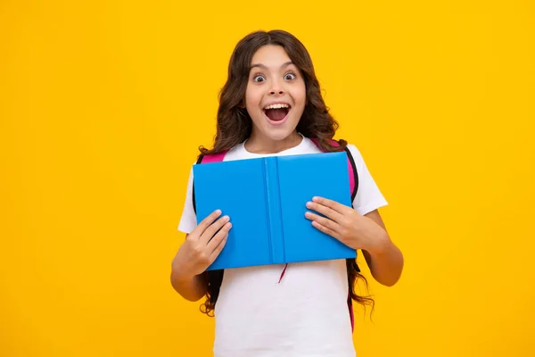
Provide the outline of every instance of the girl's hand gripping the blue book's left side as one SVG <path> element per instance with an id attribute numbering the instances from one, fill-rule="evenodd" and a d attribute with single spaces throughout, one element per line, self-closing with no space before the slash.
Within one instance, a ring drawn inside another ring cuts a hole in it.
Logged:
<path id="1" fill-rule="evenodd" d="M 178 280 L 187 280 L 201 274 L 216 260 L 226 244 L 232 228 L 229 217 L 218 217 L 221 211 L 212 212 L 185 237 L 172 262 Z"/>

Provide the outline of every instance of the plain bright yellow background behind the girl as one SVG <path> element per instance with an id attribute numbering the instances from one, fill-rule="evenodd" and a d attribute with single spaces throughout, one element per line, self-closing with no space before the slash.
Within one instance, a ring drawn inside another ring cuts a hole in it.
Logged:
<path id="1" fill-rule="evenodd" d="M 0 3 L 0 355 L 210 355 L 169 284 L 187 173 L 235 43 L 277 28 L 406 258 L 358 355 L 535 355 L 532 2 L 180 3 Z"/>

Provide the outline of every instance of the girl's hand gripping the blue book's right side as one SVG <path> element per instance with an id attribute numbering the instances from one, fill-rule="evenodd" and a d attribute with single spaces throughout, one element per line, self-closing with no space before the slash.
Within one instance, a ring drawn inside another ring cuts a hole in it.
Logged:
<path id="1" fill-rule="evenodd" d="M 307 208 L 323 214 L 306 212 L 305 217 L 325 234 L 357 250 L 380 253 L 388 242 L 386 230 L 353 208 L 323 197 L 314 197 Z"/>

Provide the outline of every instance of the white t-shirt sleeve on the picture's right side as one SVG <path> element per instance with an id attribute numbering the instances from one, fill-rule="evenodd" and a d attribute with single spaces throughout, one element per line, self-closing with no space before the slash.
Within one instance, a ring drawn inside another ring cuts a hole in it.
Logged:
<path id="1" fill-rule="evenodd" d="M 355 145 L 348 145 L 348 149 L 353 156 L 358 173 L 358 191 L 353 200 L 353 207 L 362 215 L 372 212 L 387 205 L 381 190 L 375 184 L 374 178 L 367 169 L 366 162 Z"/>

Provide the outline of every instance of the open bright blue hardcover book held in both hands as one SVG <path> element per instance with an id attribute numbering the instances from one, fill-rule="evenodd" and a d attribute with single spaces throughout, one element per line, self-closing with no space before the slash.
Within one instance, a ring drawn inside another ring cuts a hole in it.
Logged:
<path id="1" fill-rule="evenodd" d="M 355 258 L 305 217 L 316 195 L 351 206 L 347 160 L 340 152 L 193 165 L 197 222 L 220 209 L 233 225 L 208 270 Z"/>

